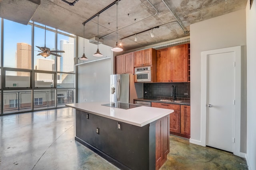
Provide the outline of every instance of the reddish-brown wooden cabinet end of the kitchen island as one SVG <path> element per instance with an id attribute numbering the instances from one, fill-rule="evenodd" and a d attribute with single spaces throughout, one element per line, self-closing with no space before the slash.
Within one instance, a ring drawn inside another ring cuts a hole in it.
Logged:
<path id="1" fill-rule="evenodd" d="M 156 170 L 164 164 L 167 154 L 170 152 L 169 120 L 170 116 L 168 115 L 156 122 Z"/>

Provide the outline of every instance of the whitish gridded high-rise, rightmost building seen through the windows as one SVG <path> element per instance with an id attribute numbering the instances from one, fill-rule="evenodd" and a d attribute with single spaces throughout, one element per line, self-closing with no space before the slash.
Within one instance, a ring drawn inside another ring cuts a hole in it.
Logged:
<path id="1" fill-rule="evenodd" d="M 61 54 L 60 65 L 63 66 L 61 71 L 74 72 L 74 38 L 68 37 L 68 41 L 60 40 L 60 50 L 65 51 Z"/>

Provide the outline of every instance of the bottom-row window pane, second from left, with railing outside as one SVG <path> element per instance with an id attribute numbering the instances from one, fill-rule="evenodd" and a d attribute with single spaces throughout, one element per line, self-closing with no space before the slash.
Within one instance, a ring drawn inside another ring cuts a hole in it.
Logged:
<path id="1" fill-rule="evenodd" d="M 34 109 L 55 107 L 55 90 L 34 90 Z"/>

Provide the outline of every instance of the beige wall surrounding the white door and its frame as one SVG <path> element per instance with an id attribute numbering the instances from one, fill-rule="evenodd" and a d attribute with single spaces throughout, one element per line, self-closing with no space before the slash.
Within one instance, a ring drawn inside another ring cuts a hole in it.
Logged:
<path id="1" fill-rule="evenodd" d="M 201 145 L 201 52 L 243 46 L 242 75 L 246 75 L 246 11 L 239 10 L 190 25 L 191 143 Z M 246 76 L 241 79 L 241 117 L 246 117 Z M 221 97 L 221 96 L 220 96 Z M 246 119 L 241 118 L 240 151 L 246 152 Z M 204 135 L 205 136 L 205 135 Z"/>

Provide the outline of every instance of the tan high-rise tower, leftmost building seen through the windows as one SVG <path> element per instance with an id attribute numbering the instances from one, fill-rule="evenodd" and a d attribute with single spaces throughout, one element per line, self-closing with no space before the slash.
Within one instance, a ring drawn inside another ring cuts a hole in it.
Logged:
<path id="1" fill-rule="evenodd" d="M 27 43 L 17 43 L 16 68 L 31 69 L 32 47 Z M 29 72 L 17 72 L 17 76 L 30 76 Z"/>

